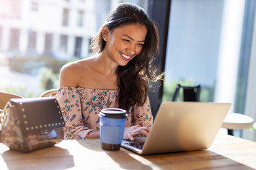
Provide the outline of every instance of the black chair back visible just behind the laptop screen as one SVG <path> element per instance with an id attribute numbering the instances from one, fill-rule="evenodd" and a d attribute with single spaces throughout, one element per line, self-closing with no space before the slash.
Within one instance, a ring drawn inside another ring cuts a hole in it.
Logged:
<path id="1" fill-rule="evenodd" d="M 201 85 L 181 86 L 181 84 L 177 84 L 172 101 L 177 101 L 180 89 L 183 89 L 183 101 L 200 101 Z"/>

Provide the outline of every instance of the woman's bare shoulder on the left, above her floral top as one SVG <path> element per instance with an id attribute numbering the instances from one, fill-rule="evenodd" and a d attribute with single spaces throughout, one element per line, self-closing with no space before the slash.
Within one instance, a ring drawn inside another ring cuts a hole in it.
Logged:
<path id="1" fill-rule="evenodd" d="M 91 58 L 65 64 L 60 70 L 60 86 L 79 86 L 83 75 L 90 70 Z"/>

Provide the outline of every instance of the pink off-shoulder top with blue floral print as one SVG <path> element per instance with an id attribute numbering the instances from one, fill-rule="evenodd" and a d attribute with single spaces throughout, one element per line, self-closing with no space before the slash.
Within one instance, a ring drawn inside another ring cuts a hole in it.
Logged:
<path id="1" fill-rule="evenodd" d="M 117 107 L 118 91 L 61 86 L 56 98 L 65 120 L 64 139 L 86 139 L 92 130 L 100 130 L 98 113 L 102 108 Z M 129 108 L 126 126 L 153 124 L 147 98 L 144 106 Z"/>

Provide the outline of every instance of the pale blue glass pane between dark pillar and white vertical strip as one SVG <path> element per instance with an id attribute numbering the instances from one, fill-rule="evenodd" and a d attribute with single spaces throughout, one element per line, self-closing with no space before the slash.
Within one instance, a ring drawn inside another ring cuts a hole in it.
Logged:
<path id="1" fill-rule="evenodd" d="M 164 101 L 176 84 L 201 84 L 201 101 L 213 101 L 223 1 L 172 1 Z"/>

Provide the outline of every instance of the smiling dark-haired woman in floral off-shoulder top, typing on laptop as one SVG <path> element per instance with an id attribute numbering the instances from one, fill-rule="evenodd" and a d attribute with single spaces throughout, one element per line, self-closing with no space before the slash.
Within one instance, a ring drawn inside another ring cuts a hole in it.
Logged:
<path id="1" fill-rule="evenodd" d="M 65 139 L 100 137 L 102 108 L 123 108 L 124 140 L 148 135 L 153 123 L 147 84 L 160 79 L 152 62 L 159 35 L 143 8 L 118 4 L 92 40 L 95 56 L 66 64 L 56 98 L 65 120 Z"/>

